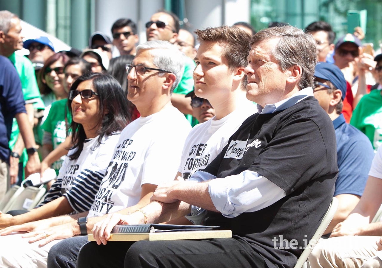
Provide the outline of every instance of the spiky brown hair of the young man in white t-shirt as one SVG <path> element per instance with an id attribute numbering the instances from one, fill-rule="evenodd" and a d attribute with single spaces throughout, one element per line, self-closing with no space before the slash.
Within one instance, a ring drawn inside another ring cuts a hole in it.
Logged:
<path id="1" fill-rule="evenodd" d="M 248 64 L 249 53 L 249 34 L 238 27 L 220 26 L 215 28 L 206 28 L 204 30 L 195 30 L 197 40 L 201 42 L 223 43 L 223 56 L 228 61 L 230 70 L 237 67 L 245 67 Z"/>

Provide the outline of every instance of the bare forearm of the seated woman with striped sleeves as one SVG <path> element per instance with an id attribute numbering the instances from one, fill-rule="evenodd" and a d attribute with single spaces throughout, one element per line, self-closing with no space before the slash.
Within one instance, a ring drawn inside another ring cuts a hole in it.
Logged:
<path id="1" fill-rule="evenodd" d="M 37 221 L 49 217 L 60 216 L 73 212 L 66 197 L 59 197 L 37 209 L 33 209 L 28 213 L 13 217 L 13 225 L 20 225 L 29 221 Z"/>

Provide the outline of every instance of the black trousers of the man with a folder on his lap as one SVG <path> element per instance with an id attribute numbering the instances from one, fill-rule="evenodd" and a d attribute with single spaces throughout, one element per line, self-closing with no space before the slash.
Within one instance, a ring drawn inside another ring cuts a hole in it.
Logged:
<path id="1" fill-rule="evenodd" d="M 110 241 L 105 246 L 88 242 L 79 251 L 76 267 L 266 268 L 267 265 L 265 265 L 263 258 L 254 252 L 246 242 L 234 238 L 221 238 L 174 241 Z"/>

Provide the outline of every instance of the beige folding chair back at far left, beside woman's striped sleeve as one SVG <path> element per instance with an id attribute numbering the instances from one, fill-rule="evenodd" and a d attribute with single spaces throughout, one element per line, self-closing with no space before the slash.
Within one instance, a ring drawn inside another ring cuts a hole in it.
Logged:
<path id="1" fill-rule="evenodd" d="M 45 194 L 45 191 L 46 189 L 43 185 L 40 188 L 28 186 L 24 188 L 12 202 L 6 205 L 4 211 L 8 212 L 10 210 L 17 209 L 33 209 L 38 204 L 41 197 Z"/>

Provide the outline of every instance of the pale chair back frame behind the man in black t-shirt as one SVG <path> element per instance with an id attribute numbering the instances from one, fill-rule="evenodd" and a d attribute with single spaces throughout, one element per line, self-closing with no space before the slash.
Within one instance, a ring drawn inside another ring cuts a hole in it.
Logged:
<path id="1" fill-rule="evenodd" d="M 306 262 L 308 260 L 309 254 L 311 254 L 314 246 L 316 246 L 318 240 L 321 238 L 322 234 L 328 227 L 330 221 L 332 221 L 335 212 L 337 211 L 338 207 L 338 199 L 333 197 L 332 202 L 329 205 L 329 209 L 324 215 L 324 218 L 322 219 L 320 225 L 317 228 L 316 233 L 314 233 L 312 239 L 309 241 L 308 246 L 304 249 L 303 253 L 301 256 L 298 258 L 297 263 L 294 268 L 309 268 L 309 262 Z"/>

